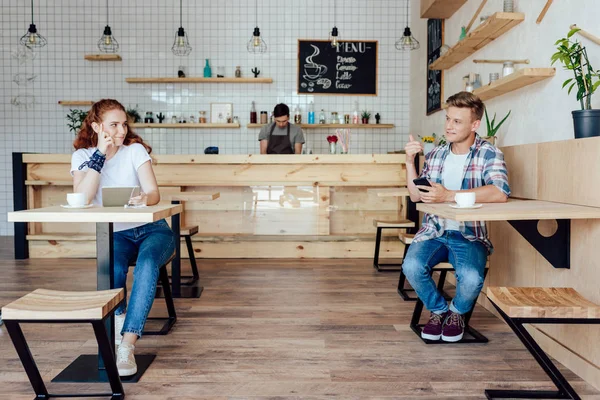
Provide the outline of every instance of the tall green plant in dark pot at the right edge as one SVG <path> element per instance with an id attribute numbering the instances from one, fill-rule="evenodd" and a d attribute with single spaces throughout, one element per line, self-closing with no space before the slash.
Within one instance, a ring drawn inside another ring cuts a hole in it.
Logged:
<path id="1" fill-rule="evenodd" d="M 581 110 L 572 112 L 575 139 L 600 136 L 600 110 L 592 110 L 592 94 L 600 85 L 600 70 L 594 71 L 590 65 L 585 47 L 570 40 L 578 31 L 579 28 L 571 29 L 566 38 L 558 39 L 557 52 L 551 58 L 552 65 L 560 61 L 565 69 L 573 71 L 574 77 L 564 81 L 562 87 L 570 84 L 567 93 L 571 94 L 577 86 L 576 97 Z"/>

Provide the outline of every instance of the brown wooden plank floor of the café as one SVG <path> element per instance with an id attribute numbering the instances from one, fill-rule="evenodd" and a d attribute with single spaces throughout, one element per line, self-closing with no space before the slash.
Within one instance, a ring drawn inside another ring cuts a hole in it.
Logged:
<path id="1" fill-rule="evenodd" d="M 138 342 L 138 353 L 157 358 L 142 381 L 125 385 L 127 399 L 482 399 L 486 388 L 552 389 L 508 327 L 481 307 L 472 322 L 490 343 L 423 344 L 408 327 L 414 303 L 396 294 L 397 274 L 376 273 L 369 260 L 202 260 L 200 268 L 205 291 L 176 299 L 172 333 Z M 0 240 L 0 305 L 38 287 L 94 290 L 95 280 L 94 260 L 15 261 Z M 153 313 L 161 306 L 157 300 Z M 24 332 L 46 382 L 95 352 L 85 325 Z M 583 398 L 600 399 L 561 369 Z M 54 392 L 106 387 L 48 384 Z M 0 399 L 33 397 L 3 327 Z"/>

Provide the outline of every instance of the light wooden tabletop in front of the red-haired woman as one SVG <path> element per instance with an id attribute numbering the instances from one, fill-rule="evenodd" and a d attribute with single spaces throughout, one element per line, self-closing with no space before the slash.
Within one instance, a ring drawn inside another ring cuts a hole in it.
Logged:
<path id="1" fill-rule="evenodd" d="M 183 211 L 180 204 L 144 208 L 90 207 L 67 209 L 61 206 L 12 211 L 8 222 L 155 222 Z"/>

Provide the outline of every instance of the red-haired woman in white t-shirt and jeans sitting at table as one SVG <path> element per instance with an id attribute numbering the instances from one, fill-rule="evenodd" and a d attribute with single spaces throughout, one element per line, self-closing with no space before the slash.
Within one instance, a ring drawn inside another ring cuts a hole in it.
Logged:
<path id="1" fill-rule="evenodd" d="M 94 103 L 73 142 L 73 189 L 85 193 L 86 203 L 102 204 L 104 186 L 140 186 L 138 204 L 160 201 L 149 153 L 152 148 L 127 125 L 125 108 L 116 100 Z M 129 265 L 135 262 L 128 312 L 115 311 L 115 340 L 119 375 L 137 372 L 135 343 L 142 336 L 154 302 L 158 271 L 175 251 L 175 236 L 163 219 L 148 224 L 114 224 L 115 288 L 125 288 Z M 121 336 L 122 335 L 122 336 Z"/>

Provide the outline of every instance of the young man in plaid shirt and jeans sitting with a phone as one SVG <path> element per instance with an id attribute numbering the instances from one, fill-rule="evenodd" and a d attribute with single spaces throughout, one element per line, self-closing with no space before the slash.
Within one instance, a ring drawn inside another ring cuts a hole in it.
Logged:
<path id="1" fill-rule="evenodd" d="M 478 203 L 503 203 L 510 195 L 504 155 L 477 134 L 485 106 L 475 95 L 451 96 L 446 111 L 446 140 L 425 156 L 421 177 L 429 186 L 415 186 L 415 155 L 423 146 L 410 136 L 405 146 L 406 178 L 414 202 L 453 202 L 458 192 L 473 192 Z M 422 192 L 421 190 L 427 190 Z M 456 222 L 425 214 L 421 229 L 408 249 L 404 274 L 431 312 L 423 328 L 424 339 L 457 342 L 464 333 L 464 317 L 483 287 L 483 273 L 493 248 L 485 222 Z M 456 271 L 456 296 L 450 303 L 437 290 L 431 269 L 449 261 Z"/>

